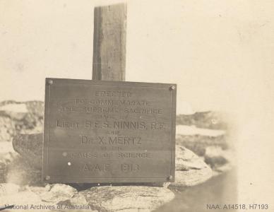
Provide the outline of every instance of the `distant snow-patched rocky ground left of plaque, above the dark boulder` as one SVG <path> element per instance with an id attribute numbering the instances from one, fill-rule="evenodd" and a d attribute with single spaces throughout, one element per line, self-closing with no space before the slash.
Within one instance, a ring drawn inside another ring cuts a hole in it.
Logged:
<path id="1" fill-rule="evenodd" d="M 42 132 L 44 103 L 41 101 L 0 102 L 0 142 L 26 132 Z"/>

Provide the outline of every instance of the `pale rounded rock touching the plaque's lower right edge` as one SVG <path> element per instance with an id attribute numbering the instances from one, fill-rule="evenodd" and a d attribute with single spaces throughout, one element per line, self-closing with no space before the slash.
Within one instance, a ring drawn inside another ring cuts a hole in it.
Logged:
<path id="1" fill-rule="evenodd" d="M 212 177 L 211 168 L 196 154 L 183 146 L 176 146 L 175 182 L 169 184 L 169 189 L 201 184 Z"/>

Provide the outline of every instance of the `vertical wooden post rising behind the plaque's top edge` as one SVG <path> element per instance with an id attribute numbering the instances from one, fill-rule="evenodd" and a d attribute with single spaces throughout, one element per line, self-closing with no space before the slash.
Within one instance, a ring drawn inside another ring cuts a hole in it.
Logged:
<path id="1" fill-rule="evenodd" d="M 93 33 L 93 79 L 125 81 L 126 4 L 96 7 Z"/>

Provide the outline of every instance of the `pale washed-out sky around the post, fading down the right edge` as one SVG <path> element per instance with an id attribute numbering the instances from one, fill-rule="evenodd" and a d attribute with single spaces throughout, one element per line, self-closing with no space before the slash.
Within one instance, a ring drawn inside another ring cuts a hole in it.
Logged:
<path id="1" fill-rule="evenodd" d="M 1 0 L 0 101 L 43 100 L 45 77 L 91 79 L 94 7 L 117 2 Z M 178 113 L 228 112 L 239 126 L 239 179 L 254 185 L 239 181 L 239 191 L 270 192 L 261 182 L 273 183 L 274 1 L 131 0 L 127 8 L 126 81 L 177 83 Z"/>

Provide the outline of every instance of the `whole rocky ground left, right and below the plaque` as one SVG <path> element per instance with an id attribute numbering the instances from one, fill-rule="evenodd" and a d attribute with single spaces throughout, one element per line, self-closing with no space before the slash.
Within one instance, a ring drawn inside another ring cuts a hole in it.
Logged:
<path id="1" fill-rule="evenodd" d="M 42 119 L 43 102 L 0 102 L 0 205 L 41 205 L 43 211 L 153 211 L 174 199 L 172 191 L 201 184 L 232 164 L 224 131 L 212 135 L 193 128 L 191 134 L 177 131 L 175 182 L 100 187 L 46 184 L 41 180 Z M 180 117 L 177 122 L 211 129 L 226 127 L 213 112 Z"/>

